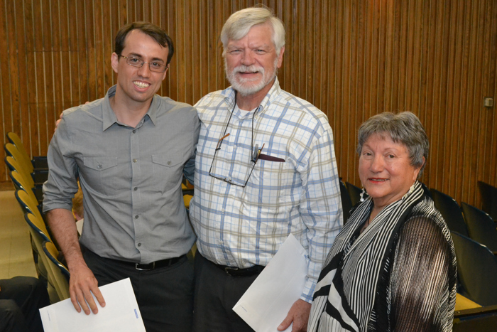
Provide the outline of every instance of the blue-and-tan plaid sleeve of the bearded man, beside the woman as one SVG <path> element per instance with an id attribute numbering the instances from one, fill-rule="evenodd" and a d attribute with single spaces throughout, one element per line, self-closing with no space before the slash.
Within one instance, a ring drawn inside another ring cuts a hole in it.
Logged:
<path id="1" fill-rule="evenodd" d="M 323 127 L 322 135 L 312 144 L 307 170 L 301 173 L 304 191 L 300 200 L 300 216 L 308 229 L 310 260 L 301 299 L 307 302 L 312 301 L 324 260 L 343 225 L 332 129 L 328 123 Z"/>

